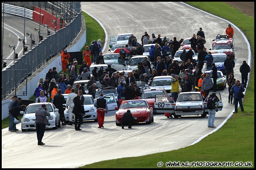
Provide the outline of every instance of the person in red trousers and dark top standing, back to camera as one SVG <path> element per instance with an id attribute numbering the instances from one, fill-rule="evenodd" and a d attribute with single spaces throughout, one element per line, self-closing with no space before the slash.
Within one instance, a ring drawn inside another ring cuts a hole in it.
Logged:
<path id="1" fill-rule="evenodd" d="M 94 106 L 97 108 L 98 128 L 104 128 L 104 117 L 105 113 L 108 111 L 108 106 L 107 100 L 104 99 L 103 93 L 101 93 L 100 97 L 94 102 Z"/>

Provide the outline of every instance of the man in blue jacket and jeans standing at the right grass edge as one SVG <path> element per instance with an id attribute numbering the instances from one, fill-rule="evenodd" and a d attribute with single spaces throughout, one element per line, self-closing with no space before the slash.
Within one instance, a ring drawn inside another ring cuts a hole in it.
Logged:
<path id="1" fill-rule="evenodd" d="M 239 80 L 236 80 L 236 84 L 233 85 L 230 89 L 230 92 L 233 93 L 234 104 L 235 104 L 235 112 L 233 112 L 233 113 L 238 112 L 238 102 L 239 102 L 239 105 L 241 108 L 241 112 L 242 113 L 244 112 L 244 107 L 242 106 L 242 98 L 238 97 L 238 94 L 242 93 L 244 91 L 245 91 L 244 85 L 242 83 L 240 83 Z"/>

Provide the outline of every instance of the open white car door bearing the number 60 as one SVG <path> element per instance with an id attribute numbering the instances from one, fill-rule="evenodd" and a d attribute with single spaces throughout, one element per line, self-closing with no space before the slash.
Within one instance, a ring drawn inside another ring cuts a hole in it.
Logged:
<path id="1" fill-rule="evenodd" d="M 155 95 L 155 112 L 156 113 L 174 113 L 175 101 L 168 95 Z"/>

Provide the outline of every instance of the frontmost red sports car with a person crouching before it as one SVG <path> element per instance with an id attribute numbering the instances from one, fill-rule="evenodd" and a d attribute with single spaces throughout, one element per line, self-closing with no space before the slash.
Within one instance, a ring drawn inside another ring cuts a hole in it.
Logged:
<path id="1" fill-rule="evenodd" d="M 122 102 L 120 109 L 116 107 L 118 111 L 116 112 L 116 125 L 121 125 L 121 119 L 123 114 L 130 110 L 134 120 L 134 123 L 146 122 L 146 124 L 151 124 L 154 122 L 153 116 L 153 106 L 144 100 L 125 100 Z"/>

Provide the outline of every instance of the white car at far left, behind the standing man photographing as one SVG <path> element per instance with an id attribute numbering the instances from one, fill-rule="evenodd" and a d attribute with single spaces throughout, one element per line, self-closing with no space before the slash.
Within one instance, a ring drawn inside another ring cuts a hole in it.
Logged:
<path id="1" fill-rule="evenodd" d="M 59 109 L 57 109 L 54 104 L 45 102 L 48 111 L 50 112 L 50 116 L 47 117 L 49 121 L 46 128 L 57 129 L 60 128 L 60 118 L 59 118 Z M 28 129 L 36 129 L 36 109 L 41 107 L 42 103 L 32 103 L 29 104 L 25 110 L 25 112 L 21 111 L 20 114 L 23 114 L 21 118 L 21 131 L 26 131 Z"/>

